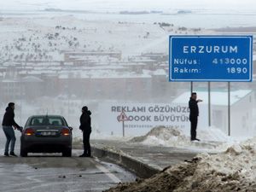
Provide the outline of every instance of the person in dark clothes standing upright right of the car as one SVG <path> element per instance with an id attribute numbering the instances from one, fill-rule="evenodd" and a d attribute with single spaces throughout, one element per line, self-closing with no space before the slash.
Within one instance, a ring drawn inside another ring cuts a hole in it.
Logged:
<path id="1" fill-rule="evenodd" d="M 83 131 L 83 143 L 84 143 L 84 154 L 81 154 L 80 157 L 90 157 L 90 110 L 86 106 L 82 108 L 82 114 L 80 117 L 80 126 L 79 129 Z"/>

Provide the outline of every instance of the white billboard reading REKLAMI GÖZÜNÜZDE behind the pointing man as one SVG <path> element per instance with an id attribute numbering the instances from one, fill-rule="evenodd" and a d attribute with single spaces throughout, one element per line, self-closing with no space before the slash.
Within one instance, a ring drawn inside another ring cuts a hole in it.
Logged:
<path id="1" fill-rule="evenodd" d="M 99 104 L 99 131 L 104 135 L 122 136 L 120 113 L 124 112 L 125 136 L 141 136 L 155 126 L 190 130 L 189 104 L 166 103 L 101 103 Z M 199 105 L 199 128 L 207 127 L 207 106 Z"/>

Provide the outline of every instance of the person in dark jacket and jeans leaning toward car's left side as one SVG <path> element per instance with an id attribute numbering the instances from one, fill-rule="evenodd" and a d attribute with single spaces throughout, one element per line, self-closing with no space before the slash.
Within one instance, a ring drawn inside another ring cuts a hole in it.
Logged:
<path id="1" fill-rule="evenodd" d="M 17 130 L 20 130 L 20 125 L 18 125 L 15 122 L 15 103 L 9 102 L 8 107 L 5 109 L 5 113 L 3 115 L 3 132 L 6 137 L 6 143 L 5 143 L 5 150 L 4 150 L 4 156 L 17 156 L 15 154 L 15 131 L 13 127 Z M 11 143 L 10 146 L 10 153 L 9 153 L 9 143 Z"/>

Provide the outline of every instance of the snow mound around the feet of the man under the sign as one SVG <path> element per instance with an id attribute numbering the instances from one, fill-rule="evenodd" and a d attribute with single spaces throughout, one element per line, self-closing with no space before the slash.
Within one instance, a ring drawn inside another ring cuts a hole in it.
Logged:
<path id="1" fill-rule="evenodd" d="M 234 143 L 234 139 L 216 128 L 197 131 L 197 136 L 201 139 L 201 142 L 191 142 L 187 132 L 160 126 L 153 128 L 145 136 L 132 138 L 130 142 L 176 148 L 218 149 L 221 151 Z"/>

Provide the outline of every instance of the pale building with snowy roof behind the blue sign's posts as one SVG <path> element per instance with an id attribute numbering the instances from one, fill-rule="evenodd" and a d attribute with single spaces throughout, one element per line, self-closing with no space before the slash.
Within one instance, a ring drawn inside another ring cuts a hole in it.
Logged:
<path id="1" fill-rule="evenodd" d="M 201 112 L 201 107 L 208 106 L 208 92 L 196 91 L 198 98 L 203 102 L 199 104 L 200 119 L 208 119 L 208 113 Z M 186 91 L 177 96 L 174 103 L 189 103 L 190 92 Z M 253 129 L 253 90 L 230 91 L 230 134 L 232 137 L 250 137 Z M 228 92 L 226 90 L 211 91 L 211 117 L 212 126 L 228 134 Z M 199 121 L 200 121 L 199 119 Z M 199 127 L 201 128 L 201 127 Z"/>

